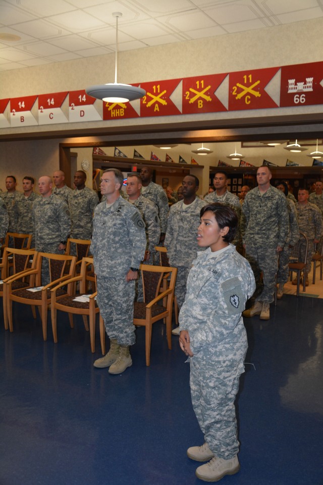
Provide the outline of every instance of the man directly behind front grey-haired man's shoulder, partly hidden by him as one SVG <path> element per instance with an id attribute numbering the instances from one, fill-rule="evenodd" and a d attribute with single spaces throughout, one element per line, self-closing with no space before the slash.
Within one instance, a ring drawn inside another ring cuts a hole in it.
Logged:
<path id="1" fill-rule="evenodd" d="M 146 251 L 145 257 L 142 261 L 145 264 L 153 264 L 156 258 L 155 246 L 158 245 L 160 239 L 160 221 L 158 217 L 158 208 L 140 194 L 141 178 L 138 173 L 129 173 L 127 178 L 127 196 L 131 204 L 133 204 L 140 212 L 143 222 L 146 225 Z M 139 273 L 136 282 L 136 298 L 137 301 L 143 301 L 143 289 L 141 275 Z"/>

